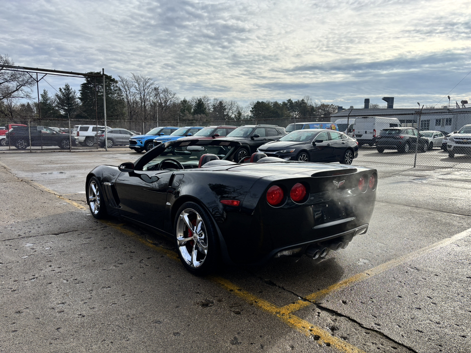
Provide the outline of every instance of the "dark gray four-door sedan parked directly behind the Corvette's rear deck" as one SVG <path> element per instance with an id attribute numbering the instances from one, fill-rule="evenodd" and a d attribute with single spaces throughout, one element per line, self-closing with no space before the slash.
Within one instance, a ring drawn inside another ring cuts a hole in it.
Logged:
<path id="1" fill-rule="evenodd" d="M 258 151 L 285 160 L 352 164 L 353 158 L 358 156 L 358 143 L 339 131 L 305 129 L 268 142 Z"/>

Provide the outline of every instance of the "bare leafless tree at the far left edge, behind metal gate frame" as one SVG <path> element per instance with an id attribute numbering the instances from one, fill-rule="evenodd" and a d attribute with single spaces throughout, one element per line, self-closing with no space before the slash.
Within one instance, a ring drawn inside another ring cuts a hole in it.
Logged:
<path id="1" fill-rule="evenodd" d="M 36 81 L 25 72 L 12 71 L 3 65 L 14 65 L 7 54 L 0 54 L 0 102 L 7 99 L 30 99 L 31 87 Z"/>

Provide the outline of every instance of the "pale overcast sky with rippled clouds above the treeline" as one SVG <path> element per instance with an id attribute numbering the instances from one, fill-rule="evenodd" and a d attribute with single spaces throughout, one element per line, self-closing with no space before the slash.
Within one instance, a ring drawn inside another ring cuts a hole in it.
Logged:
<path id="1" fill-rule="evenodd" d="M 149 76 L 181 99 L 471 103 L 471 1 L 3 0 L 0 8 L 0 53 L 15 65 Z M 40 90 L 51 95 L 83 81 L 46 79 Z"/>

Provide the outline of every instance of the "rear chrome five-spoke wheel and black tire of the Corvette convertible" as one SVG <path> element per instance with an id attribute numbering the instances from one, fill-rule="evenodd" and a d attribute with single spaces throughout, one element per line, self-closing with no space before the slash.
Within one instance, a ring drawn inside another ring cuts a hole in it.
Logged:
<path id="1" fill-rule="evenodd" d="M 199 204 L 185 202 L 178 209 L 174 222 L 175 244 L 183 266 L 193 275 L 206 275 L 218 267 L 220 252 L 216 234 L 208 213 Z"/>

